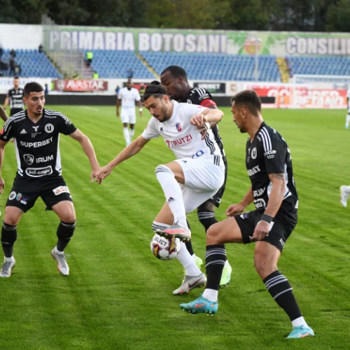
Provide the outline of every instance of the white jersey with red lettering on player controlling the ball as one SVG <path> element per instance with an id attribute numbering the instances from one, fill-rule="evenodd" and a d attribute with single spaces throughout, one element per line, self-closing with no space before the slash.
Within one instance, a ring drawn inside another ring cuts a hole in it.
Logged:
<path id="1" fill-rule="evenodd" d="M 208 130 L 207 137 L 202 140 L 202 134 L 197 131 L 197 127 L 190 124 L 190 118 L 200 114 L 205 108 L 196 104 L 179 104 L 175 101 L 172 103 L 174 104 L 172 117 L 163 123 L 152 117 L 142 137 L 155 139 L 161 135 L 177 159 L 217 155 L 220 160 L 221 151 L 211 129 Z"/>

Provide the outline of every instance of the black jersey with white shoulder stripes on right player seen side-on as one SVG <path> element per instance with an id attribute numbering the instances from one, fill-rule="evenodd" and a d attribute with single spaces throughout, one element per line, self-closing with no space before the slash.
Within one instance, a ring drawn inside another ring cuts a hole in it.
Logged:
<path id="1" fill-rule="evenodd" d="M 253 190 L 255 209 L 265 209 L 269 202 L 272 182 L 269 174 L 284 173 L 286 188 L 284 204 L 297 208 L 297 190 L 293 178 L 292 158 L 283 137 L 265 123 L 262 123 L 253 141 L 246 143 L 246 169 Z"/>

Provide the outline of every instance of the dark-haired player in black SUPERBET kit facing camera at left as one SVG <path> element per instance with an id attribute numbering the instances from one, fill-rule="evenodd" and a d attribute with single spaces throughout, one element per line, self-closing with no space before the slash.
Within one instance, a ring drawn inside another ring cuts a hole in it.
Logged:
<path id="1" fill-rule="evenodd" d="M 83 132 L 80 132 L 64 114 L 44 109 L 45 94 L 38 83 L 25 85 L 26 111 L 8 118 L 0 132 L 0 169 L 4 148 L 13 138 L 18 161 L 18 172 L 6 202 L 5 216 L 1 229 L 1 246 L 5 262 L 0 276 L 9 277 L 15 266 L 13 245 L 17 239 L 17 225 L 22 214 L 34 206 L 41 197 L 47 209 L 55 211 L 60 223 L 57 228 L 57 246 L 51 255 L 57 261 L 57 267 L 64 276 L 69 275 L 69 267 L 64 256 L 64 248 L 73 236 L 76 227 L 76 213 L 73 200 L 62 178 L 61 156 L 59 155 L 59 134 L 69 135 L 79 142 L 90 160 L 91 181 L 101 179 L 94 148 Z M 0 193 L 5 183 L 0 176 Z"/>

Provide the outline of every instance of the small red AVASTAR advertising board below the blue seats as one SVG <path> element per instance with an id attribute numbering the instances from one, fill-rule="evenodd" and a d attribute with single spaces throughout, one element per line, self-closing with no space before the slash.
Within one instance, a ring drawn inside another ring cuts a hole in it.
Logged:
<path id="1" fill-rule="evenodd" d="M 101 79 L 57 79 L 54 90 L 71 92 L 107 91 L 108 81 Z"/>

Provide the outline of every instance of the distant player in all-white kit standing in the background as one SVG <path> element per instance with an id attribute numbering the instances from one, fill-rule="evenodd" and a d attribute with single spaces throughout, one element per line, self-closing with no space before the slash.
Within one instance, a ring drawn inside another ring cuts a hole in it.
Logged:
<path id="1" fill-rule="evenodd" d="M 142 105 L 139 91 L 132 87 L 132 80 L 127 80 L 127 86 L 120 89 L 117 98 L 117 117 L 122 120 L 123 134 L 125 144 L 129 145 L 134 137 L 134 125 L 136 123 L 135 102 L 139 106 L 140 117 L 142 117 Z M 122 105 L 121 115 L 119 113 L 120 104 Z"/>

